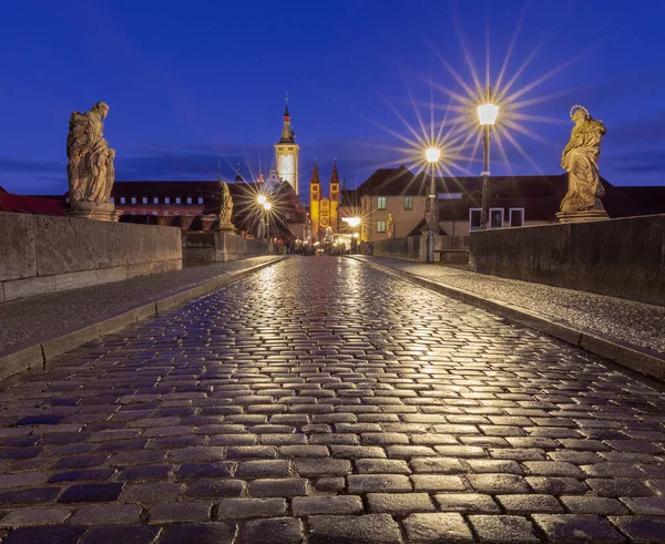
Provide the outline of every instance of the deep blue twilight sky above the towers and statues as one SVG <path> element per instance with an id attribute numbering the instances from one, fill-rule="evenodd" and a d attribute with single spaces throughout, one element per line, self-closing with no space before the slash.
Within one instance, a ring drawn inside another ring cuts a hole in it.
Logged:
<path id="1" fill-rule="evenodd" d="M 446 115 L 441 86 L 463 93 L 443 61 L 471 83 L 466 48 L 495 83 L 511 42 L 503 81 L 525 90 L 536 137 L 510 131 L 529 158 L 493 145 L 493 175 L 561 173 L 580 103 L 607 129 L 604 177 L 663 185 L 663 20 L 661 0 L 0 0 L 0 185 L 66 191 L 69 115 L 96 101 L 116 179 L 215 179 L 218 162 L 225 177 L 267 173 L 288 92 L 303 196 L 315 157 L 356 186 L 402 162 L 399 135 L 429 123 L 430 101 Z M 461 154 L 475 162 L 452 172 L 479 174 L 473 140 Z"/>

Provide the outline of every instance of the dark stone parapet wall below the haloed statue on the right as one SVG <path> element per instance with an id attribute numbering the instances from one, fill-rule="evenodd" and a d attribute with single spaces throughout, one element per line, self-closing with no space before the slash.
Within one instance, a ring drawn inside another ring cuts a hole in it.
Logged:
<path id="1" fill-rule="evenodd" d="M 474 232 L 482 274 L 665 306 L 665 215 Z"/>

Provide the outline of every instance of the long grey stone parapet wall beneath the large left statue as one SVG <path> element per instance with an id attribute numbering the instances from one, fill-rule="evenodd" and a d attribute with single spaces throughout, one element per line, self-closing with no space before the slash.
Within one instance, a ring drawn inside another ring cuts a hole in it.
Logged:
<path id="1" fill-rule="evenodd" d="M 0 302 L 182 268 L 181 230 L 0 212 Z"/>

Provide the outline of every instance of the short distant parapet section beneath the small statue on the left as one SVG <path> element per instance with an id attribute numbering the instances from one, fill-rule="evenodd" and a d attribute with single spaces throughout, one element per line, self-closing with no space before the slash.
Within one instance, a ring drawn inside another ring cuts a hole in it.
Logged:
<path id="1" fill-rule="evenodd" d="M 191 263 L 228 263 L 276 254 L 275 244 L 252 240 L 219 230 L 182 234 L 183 259 Z"/>

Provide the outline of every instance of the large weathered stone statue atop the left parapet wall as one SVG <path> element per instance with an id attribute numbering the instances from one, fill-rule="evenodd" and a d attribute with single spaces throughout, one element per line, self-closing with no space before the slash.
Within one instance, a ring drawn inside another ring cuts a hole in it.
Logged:
<path id="1" fill-rule="evenodd" d="M 106 203 L 115 177 L 113 158 L 115 152 L 104 140 L 102 120 L 109 114 L 109 105 L 98 102 L 85 113 L 73 112 L 66 137 L 66 173 L 70 202 Z"/>

